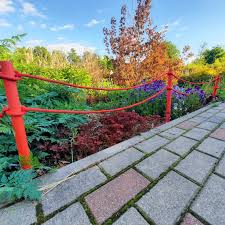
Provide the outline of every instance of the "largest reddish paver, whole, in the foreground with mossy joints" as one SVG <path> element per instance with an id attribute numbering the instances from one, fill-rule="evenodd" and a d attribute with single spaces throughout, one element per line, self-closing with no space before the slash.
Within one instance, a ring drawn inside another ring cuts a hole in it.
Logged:
<path id="1" fill-rule="evenodd" d="M 98 223 L 103 223 L 130 199 L 142 191 L 149 181 L 130 169 L 85 197 Z"/>

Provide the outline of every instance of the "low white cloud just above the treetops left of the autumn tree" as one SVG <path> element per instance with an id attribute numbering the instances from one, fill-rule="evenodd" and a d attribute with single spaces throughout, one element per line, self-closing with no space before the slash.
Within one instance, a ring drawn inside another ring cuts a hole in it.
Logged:
<path id="1" fill-rule="evenodd" d="M 71 50 L 71 48 L 74 48 L 76 50 L 77 54 L 79 54 L 79 55 L 82 55 L 85 51 L 94 52 L 96 50 L 95 47 L 83 45 L 83 44 L 76 43 L 76 42 L 49 44 L 49 45 L 47 45 L 47 48 L 50 51 L 60 50 L 60 51 L 63 51 L 63 52 L 69 52 Z"/>

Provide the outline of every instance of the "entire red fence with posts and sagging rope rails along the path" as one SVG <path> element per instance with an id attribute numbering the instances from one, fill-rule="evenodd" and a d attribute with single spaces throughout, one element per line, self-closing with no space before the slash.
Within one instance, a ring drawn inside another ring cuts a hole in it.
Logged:
<path id="1" fill-rule="evenodd" d="M 31 78 L 31 79 L 36 79 L 36 80 L 42 80 L 45 82 L 51 82 L 55 84 L 61 84 L 61 85 L 66 85 L 69 87 L 74 87 L 74 88 L 80 88 L 80 89 L 88 89 L 88 90 L 99 90 L 99 91 L 126 91 L 126 90 L 131 90 L 135 89 L 138 87 L 142 87 L 146 84 L 151 84 L 154 81 L 150 81 L 145 84 L 141 85 L 136 85 L 132 87 L 127 87 L 127 88 L 95 88 L 95 87 L 87 87 L 87 86 L 81 86 L 81 85 L 76 85 L 76 84 L 70 84 L 64 81 L 56 81 L 56 80 L 51 80 L 45 77 L 41 76 L 34 76 L 30 74 L 22 74 L 14 70 L 13 65 L 9 61 L 0 61 L 0 79 L 3 80 L 4 83 L 4 88 L 5 88 L 5 93 L 6 93 L 6 98 L 8 102 L 8 106 L 4 107 L 2 110 L 2 113 L 0 113 L 0 118 L 2 118 L 5 115 L 8 115 L 11 117 L 12 121 L 12 127 L 15 132 L 15 141 L 16 141 L 16 146 L 18 149 L 18 154 L 20 158 L 20 164 L 23 169 L 30 169 L 32 167 L 31 165 L 31 155 L 30 155 L 30 149 L 28 146 L 28 141 L 27 141 L 27 135 L 26 135 L 26 130 L 25 130 L 25 125 L 24 125 L 24 119 L 23 116 L 27 112 L 43 112 L 43 113 L 66 113 L 66 114 L 95 114 L 95 113 L 107 113 L 107 112 L 117 112 L 117 111 L 122 111 L 125 109 L 130 109 L 135 106 L 144 104 L 145 102 L 156 98 L 160 94 L 162 94 L 164 91 L 166 91 L 166 114 L 165 114 L 165 119 L 166 122 L 169 122 L 171 120 L 171 105 L 172 105 L 172 91 L 181 94 L 181 95 L 188 95 L 183 92 L 179 92 L 175 89 L 173 89 L 173 78 L 177 80 L 181 80 L 185 83 L 189 83 L 192 85 L 202 85 L 206 83 L 213 83 L 213 92 L 212 96 L 215 97 L 217 94 L 217 90 L 219 88 L 219 82 L 220 82 L 220 76 L 217 76 L 215 79 L 212 79 L 209 82 L 190 82 L 184 79 L 181 79 L 177 77 L 172 71 L 169 71 L 167 73 L 168 76 L 168 81 L 167 81 L 167 87 L 161 89 L 158 91 L 156 94 L 140 101 L 132 105 L 128 105 L 125 107 L 121 108 L 116 108 L 116 109 L 108 109 L 108 110 L 88 110 L 88 111 L 81 111 L 81 110 L 58 110 L 58 109 L 43 109 L 43 108 L 31 108 L 31 107 L 25 107 L 21 105 L 20 103 L 20 98 L 19 98 L 19 93 L 17 89 L 17 82 L 22 79 L 23 77 L 25 78 Z"/>

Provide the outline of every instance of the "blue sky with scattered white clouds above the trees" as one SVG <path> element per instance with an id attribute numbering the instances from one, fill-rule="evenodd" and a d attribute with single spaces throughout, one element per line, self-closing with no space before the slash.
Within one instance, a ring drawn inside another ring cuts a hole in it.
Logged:
<path id="1" fill-rule="evenodd" d="M 24 46 L 104 54 L 102 29 L 124 3 L 132 14 L 136 0 L 0 0 L 0 39 L 25 32 Z M 225 45 L 225 0 L 152 0 L 152 19 L 179 49 Z"/>

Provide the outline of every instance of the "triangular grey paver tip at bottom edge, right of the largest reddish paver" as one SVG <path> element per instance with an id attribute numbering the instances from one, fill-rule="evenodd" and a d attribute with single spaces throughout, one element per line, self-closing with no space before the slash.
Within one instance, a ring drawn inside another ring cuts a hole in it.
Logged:
<path id="1" fill-rule="evenodd" d="M 149 225 L 135 209 L 128 209 L 113 225 Z"/>

